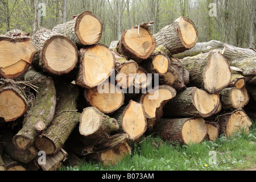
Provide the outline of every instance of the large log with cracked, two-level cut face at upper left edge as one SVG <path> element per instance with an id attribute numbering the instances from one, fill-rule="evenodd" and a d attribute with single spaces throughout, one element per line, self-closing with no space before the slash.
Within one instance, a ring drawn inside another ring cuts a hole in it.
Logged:
<path id="1" fill-rule="evenodd" d="M 28 34 L 11 30 L 0 36 L 0 76 L 13 79 L 30 67 L 38 49 Z"/>

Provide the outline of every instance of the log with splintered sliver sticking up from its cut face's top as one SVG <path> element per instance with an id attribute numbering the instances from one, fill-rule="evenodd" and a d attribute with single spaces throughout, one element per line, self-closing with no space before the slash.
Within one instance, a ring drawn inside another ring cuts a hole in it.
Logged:
<path id="1" fill-rule="evenodd" d="M 148 28 L 151 25 L 144 23 L 125 30 L 117 44 L 117 52 L 138 64 L 150 57 L 156 47 L 155 38 Z"/>

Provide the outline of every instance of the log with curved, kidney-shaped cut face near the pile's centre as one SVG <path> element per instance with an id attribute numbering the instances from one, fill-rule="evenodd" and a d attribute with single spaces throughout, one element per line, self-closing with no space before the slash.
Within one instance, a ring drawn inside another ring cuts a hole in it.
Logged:
<path id="1" fill-rule="evenodd" d="M 169 85 L 160 85 L 142 94 L 139 103 L 144 107 L 148 129 L 152 130 L 155 123 L 162 118 L 163 107 L 174 97 L 176 90 Z"/>

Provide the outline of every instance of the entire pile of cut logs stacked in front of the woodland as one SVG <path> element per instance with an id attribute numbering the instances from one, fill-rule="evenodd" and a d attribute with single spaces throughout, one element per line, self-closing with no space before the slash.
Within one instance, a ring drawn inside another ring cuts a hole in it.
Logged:
<path id="1" fill-rule="evenodd" d="M 248 132 L 254 49 L 197 43 L 183 16 L 154 35 L 153 24 L 109 47 L 89 11 L 32 37 L 0 35 L 0 170 L 56 170 L 68 157 L 114 164 L 152 133 L 189 144 Z"/>

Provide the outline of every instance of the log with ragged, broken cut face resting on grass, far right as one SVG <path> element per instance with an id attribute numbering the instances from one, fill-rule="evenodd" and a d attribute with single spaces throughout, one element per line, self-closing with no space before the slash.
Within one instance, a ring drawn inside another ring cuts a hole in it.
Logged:
<path id="1" fill-rule="evenodd" d="M 229 137 L 238 132 L 249 133 L 252 122 L 244 110 L 236 110 L 232 113 L 218 115 L 215 119 L 220 125 L 220 134 Z"/>

